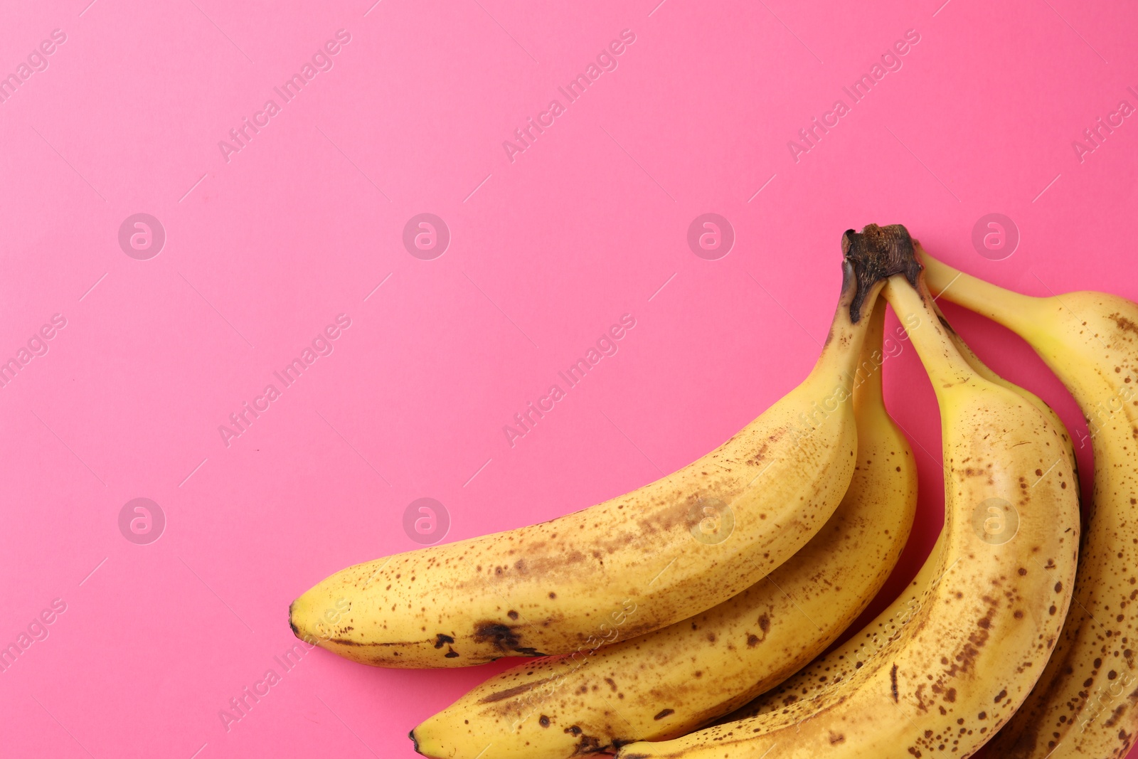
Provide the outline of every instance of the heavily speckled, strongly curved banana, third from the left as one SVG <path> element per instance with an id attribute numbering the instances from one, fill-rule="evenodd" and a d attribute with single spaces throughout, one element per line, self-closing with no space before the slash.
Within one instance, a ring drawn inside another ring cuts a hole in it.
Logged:
<path id="1" fill-rule="evenodd" d="M 1062 457 L 1044 471 L 1063 455 L 1063 440 L 1023 396 L 968 365 L 914 279 L 921 290 L 890 277 L 885 297 L 932 380 L 946 467 L 946 525 L 918 603 L 877 655 L 816 698 L 629 744 L 619 759 L 967 757 L 1042 673 L 1078 558 L 1078 488 Z"/>

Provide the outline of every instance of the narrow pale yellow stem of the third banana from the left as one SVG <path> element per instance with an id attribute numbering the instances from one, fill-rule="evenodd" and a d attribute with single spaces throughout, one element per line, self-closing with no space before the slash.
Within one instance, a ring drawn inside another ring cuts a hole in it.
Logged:
<path id="1" fill-rule="evenodd" d="M 923 277 L 918 280 L 918 287 L 920 290 L 904 277 L 894 274 L 885 284 L 884 296 L 900 317 L 905 331 L 909 333 L 932 380 L 938 401 L 942 401 L 947 388 L 967 382 L 975 377 L 975 371 L 956 349 L 953 338 L 940 323 Z"/>

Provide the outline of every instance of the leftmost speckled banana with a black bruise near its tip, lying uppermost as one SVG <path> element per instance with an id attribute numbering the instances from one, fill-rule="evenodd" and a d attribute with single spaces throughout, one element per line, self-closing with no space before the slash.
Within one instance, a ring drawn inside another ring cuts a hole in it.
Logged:
<path id="1" fill-rule="evenodd" d="M 582 655 L 753 585 L 822 528 L 853 473 L 844 401 L 881 284 L 843 273 L 810 374 L 711 453 L 552 521 L 344 569 L 292 602 L 292 632 L 381 667 Z"/>

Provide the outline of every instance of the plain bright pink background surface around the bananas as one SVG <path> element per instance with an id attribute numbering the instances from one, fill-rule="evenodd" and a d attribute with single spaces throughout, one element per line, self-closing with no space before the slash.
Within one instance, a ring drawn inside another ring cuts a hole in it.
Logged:
<path id="1" fill-rule="evenodd" d="M 1119 3 L 372 1 L 0 8 L 0 74 L 66 34 L 0 104 L 0 360 L 67 322 L 0 388 L 0 642 L 66 603 L 0 674 L 6 756 L 413 756 L 411 727 L 510 662 L 315 651 L 283 674 L 288 603 L 415 547 L 414 498 L 464 538 L 726 439 L 811 366 L 847 228 L 904 222 L 1031 294 L 1138 299 L 1138 119 L 1072 148 L 1138 106 Z M 333 67 L 226 163 L 218 141 L 340 28 Z M 616 71 L 511 163 L 503 141 L 626 28 Z M 902 67 L 795 162 L 787 141 L 907 30 Z M 402 244 L 421 212 L 452 234 L 432 261 Z M 707 212 L 736 234 L 718 261 L 686 244 Z M 998 262 L 972 245 L 992 212 L 1021 236 Z M 148 261 L 118 245 L 134 213 L 166 232 Z M 1022 341 L 947 311 L 1085 432 Z M 226 447 L 218 426 L 341 313 L 335 352 Z M 503 426 L 625 313 L 619 352 L 511 447 Z M 939 526 L 940 440 L 910 347 L 885 378 L 923 500 L 896 589 Z M 118 528 L 135 497 L 166 517 L 148 545 Z M 218 711 L 270 668 L 226 731 Z"/>

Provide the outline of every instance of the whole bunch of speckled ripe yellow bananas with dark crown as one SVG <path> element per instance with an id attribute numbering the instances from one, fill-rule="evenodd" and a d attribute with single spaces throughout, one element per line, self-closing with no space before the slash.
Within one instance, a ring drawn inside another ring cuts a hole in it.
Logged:
<path id="1" fill-rule="evenodd" d="M 530 657 L 411 732 L 435 759 L 1124 757 L 1138 305 L 1004 290 L 901 225 L 849 230 L 842 250 L 816 365 L 718 448 L 549 522 L 341 570 L 292 603 L 294 633 L 381 667 Z M 1085 528 L 1063 423 L 984 365 L 933 294 L 1021 335 L 1074 395 L 1095 456 Z M 916 509 L 882 398 L 887 302 L 940 407 L 945 523 L 893 603 L 831 649 Z"/>

